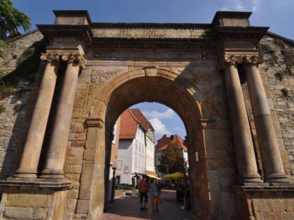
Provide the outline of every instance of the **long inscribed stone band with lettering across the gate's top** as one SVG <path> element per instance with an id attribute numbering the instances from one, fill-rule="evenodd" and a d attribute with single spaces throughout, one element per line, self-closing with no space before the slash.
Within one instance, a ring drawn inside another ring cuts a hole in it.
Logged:
<path id="1" fill-rule="evenodd" d="M 209 38 L 211 29 L 95 28 L 97 38 Z"/>

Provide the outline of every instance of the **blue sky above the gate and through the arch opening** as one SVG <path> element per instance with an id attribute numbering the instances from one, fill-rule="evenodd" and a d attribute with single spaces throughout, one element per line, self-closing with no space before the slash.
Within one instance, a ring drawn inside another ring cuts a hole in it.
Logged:
<path id="1" fill-rule="evenodd" d="M 294 39 L 294 0 L 14 0 L 14 6 L 35 24 L 53 24 L 52 10 L 88 10 L 92 22 L 211 23 L 216 11 L 251 11 L 252 26 Z M 156 131 L 163 134 L 186 131 L 178 115 L 165 105 L 143 103 L 140 108 Z"/>

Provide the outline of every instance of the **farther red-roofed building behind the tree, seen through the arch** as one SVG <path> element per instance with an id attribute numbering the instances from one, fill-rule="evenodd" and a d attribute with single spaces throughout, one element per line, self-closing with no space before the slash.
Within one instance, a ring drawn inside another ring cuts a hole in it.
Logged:
<path id="1" fill-rule="evenodd" d="M 186 140 L 183 140 L 183 138 L 181 138 L 179 135 L 171 135 L 169 138 L 167 135 L 163 135 L 162 138 L 158 140 L 158 144 L 155 146 L 155 170 L 158 177 L 165 175 L 164 173 L 160 173 L 158 171 L 158 165 L 160 165 L 160 156 L 165 152 L 165 149 L 167 149 L 169 143 L 178 145 L 181 153 L 183 154 L 183 158 L 188 162 L 188 143 Z"/>

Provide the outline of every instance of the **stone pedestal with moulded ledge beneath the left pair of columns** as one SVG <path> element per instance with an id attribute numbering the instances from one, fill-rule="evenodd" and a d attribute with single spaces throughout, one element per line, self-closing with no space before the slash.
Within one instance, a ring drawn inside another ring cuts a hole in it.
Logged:
<path id="1" fill-rule="evenodd" d="M 0 181 L 0 219 L 64 219 L 71 187 L 71 182 Z"/>

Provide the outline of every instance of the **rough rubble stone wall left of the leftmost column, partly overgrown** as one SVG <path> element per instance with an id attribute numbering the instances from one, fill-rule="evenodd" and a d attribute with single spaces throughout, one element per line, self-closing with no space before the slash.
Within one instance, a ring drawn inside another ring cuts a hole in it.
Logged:
<path id="1" fill-rule="evenodd" d="M 18 66 L 22 53 L 42 38 L 40 31 L 31 31 L 9 41 L 8 47 L 4 50 L 6 56 L 0 59 L 0 72 L 13 71 Z M 0 179 L 6 179 L 18 168 L 42 71 L 43 66 L 35 73 L 34 83 L 20 80 L 18 88 L 22 90 L 18 94 L 0 100 L 0 104 L 5 108 L 0 115 Z"/>

